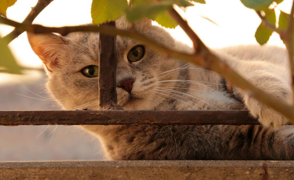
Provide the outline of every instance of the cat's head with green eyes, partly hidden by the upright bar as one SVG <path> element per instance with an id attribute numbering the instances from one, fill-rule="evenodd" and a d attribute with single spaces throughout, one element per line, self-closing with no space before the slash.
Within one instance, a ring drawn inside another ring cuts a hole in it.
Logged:
<path id="1" fill-rule="evenodd" d="M 116 21 L 116 27 L 130 28 L 123 18 Z M 149 20 L 135 23 L 134 28 L 148 38 L 174 47 L 173 38 Z M 98 33 L 70 33 L 66 37 L 28 34 L 28 37 L 47 68 L 48 89 L 64 109 L 98 109 Z M 155 90 L 164 86 L 158 81 L 178 79 L 180 75 L 161 73 L 182 65 L 120 36 L 116 38 L 116 60 L 118 104 L 126 110 L 152 110 L 160 105 L 168 96 Z"/>

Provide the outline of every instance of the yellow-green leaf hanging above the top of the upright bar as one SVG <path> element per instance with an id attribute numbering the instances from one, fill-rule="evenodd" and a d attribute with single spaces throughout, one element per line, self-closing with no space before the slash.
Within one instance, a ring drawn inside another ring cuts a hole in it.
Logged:
<path id="1" fill-rule="evenodd" d="M 128 8 L 126 0 L 93 0 L 91 16 L 93 24 L 115 21 Z"/>

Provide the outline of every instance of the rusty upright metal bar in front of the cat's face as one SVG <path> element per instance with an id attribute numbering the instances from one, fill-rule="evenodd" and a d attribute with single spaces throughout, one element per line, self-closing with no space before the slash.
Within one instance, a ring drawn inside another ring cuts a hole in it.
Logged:
<path id="1" fill-rule="evenodd" d="M 115 26 L 115 22 L 100 26 Z M 115 39 L 115 36 L 99 33 L 99 106 L 104 110 L 121 109 L 116 94 Z"/>

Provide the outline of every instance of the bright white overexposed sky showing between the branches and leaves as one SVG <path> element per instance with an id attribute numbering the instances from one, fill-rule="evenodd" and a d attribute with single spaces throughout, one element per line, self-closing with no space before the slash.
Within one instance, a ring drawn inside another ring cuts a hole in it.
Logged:
<path id="1" fill-rule="evenodd" d="M 7 18 L 21 22 L 35 6 L 37 0 L 18 0 L 7 10 Z M 256 28 L 260 19 L 251 9 L 246 8 L 239 0 L 206 0 L 207 4 L 197 4 L 186 10 L 186 18 L 198 36 L 209 47 L 223 47 L 238 44 L 255 44 Z M 284 0 L 278 8 L 290 13 L 292 0 Z M 91 22 L 91 0 L 54 0 L 42 11 L 33 23 L 46 26 L 79 25 Z M 202 18 L 207 17 L 218 25 Z M 0 25 L 0 35 L 4 36 L 13 28 Z M 169 30 L 172 35 L 186 43 L 190 43 L 181 28 Z M 274 33 L 269 45 L 283 46 L 279 36 Z M 9 45 L 15 58 L 22 65 L 40 67 L 41 60 L 29 46 L 26 33 L 23 33 Z M 9 75 L 5 75 L 8 77 Z M 0 75 L 0 79 L 4 79 Z"/>

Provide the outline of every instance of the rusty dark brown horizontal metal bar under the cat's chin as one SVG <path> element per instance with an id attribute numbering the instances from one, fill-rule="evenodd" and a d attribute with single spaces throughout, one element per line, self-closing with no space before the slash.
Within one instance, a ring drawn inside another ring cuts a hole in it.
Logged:
<path id="1" fill-rule="evenodd" d="M 247 110 L 0 111 L 0 125 L 258 125 Z"/>

